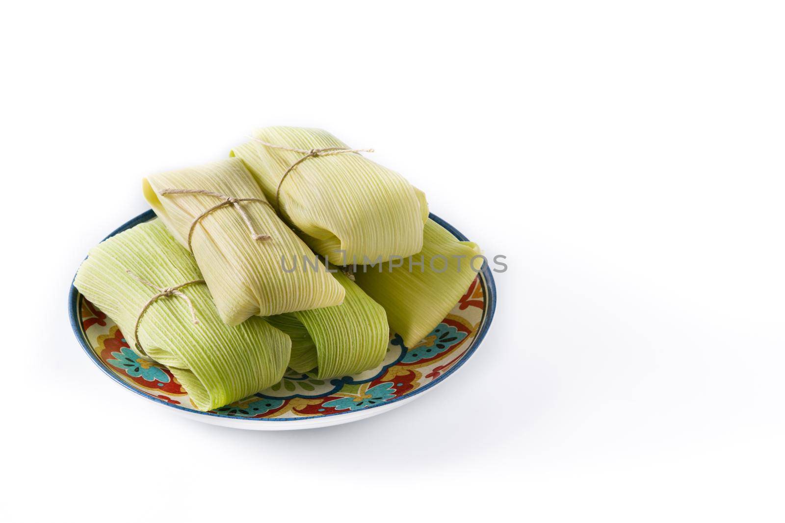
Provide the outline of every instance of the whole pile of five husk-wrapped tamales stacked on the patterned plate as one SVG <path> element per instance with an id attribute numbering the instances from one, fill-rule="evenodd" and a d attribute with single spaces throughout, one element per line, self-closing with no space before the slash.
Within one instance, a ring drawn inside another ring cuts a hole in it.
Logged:
<path id="1" fill-rule="evenodd" d="M 148 176 L 159 220 L 93 248 L 75 286 L 200 410 L 269 387 L 287 367 L 319 378 L 374 369 L 390 329 L 411 345 L 444 318 L 479 249 L 360 151 L 320 129 L 270 127 L 231 158 Z M 384 263 L 412 255 L 414 270 Z"/>

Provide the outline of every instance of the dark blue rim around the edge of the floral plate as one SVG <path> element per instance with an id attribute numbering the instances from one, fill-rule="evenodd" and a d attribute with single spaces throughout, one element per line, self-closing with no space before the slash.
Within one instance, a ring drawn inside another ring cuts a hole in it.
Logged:
<path id="1" fill-rule="evenodd" d="M 152 220 L 153 218 L 155 218 L 155 212 L 153 212 L 152 209 L 142 212 L 139 216 L 135 216 L 131 220 L 128 220 L 126 223 L 123 223 L 120 227 L 116 228 L 114 231 L 111 231 L 111 234 L 108 234 L 108 236 L 104 238 L 104 240 L 106 240 L 107 238 L 111 238 L 115 234 L 121 233 L 122 231 L 126 231 L 126 229 L 130 229 L 131 227 L 134 227 L 139 223 L 144 223 L 149 220 Z M 469 239 L 466 238 L 466 236 L 464 236 L 461 233 L 461 231 L 458 231 L 458 229 L 453 227 L 450 223 L 447 223 L 446 221 L 442 220 L 439 216 L 433 214 L 433 212 L 429 213 L 429 218 L 435 221 L 436 223 L 439 223 L 439 225 L 447 229 L 447 231 L 450 231 L 450 233 L 453 236 L 455 236 L 455 238 L 458 238 L 459 241 L 469 242 Z M 403 401 L 406 399 L 413 398 L 417 394 L 420 394 L 422 392 L 425 392 L 425 390 L 429 390 L 430 388 L 435 387 L 437 384 L 446 380 L 447 377 L 450 376 L 453 372 L 460 369 L 462 365 L 467 360 L 469 360 L 469 358 L 473 356 L 474 352 L 477 350 L 477 347 L 480 347 L 480 343 L 482 343 L 485 335 L 487 334 L 488 329 L 491 327 L 491 321 L 493 320 L 494 314 L 496 312 L 496 284 L 493 279 L 493 273 L 491 272 L 491 268 L 488 266 L 487 263 L 483 264 L 480 274 L 482 275 L 482 278 L 480 278 L 480 284 L 483 286 L 486 306 L 483 311 L 483 316 L 482 318 L 480 318 L 480 329 L 478 329 L 478 331 L 476 332 L 474 336 L 474 340 L 472 340 L 472 346 L 469 347 L 469 351 L 466 353 L 466 356 L 461 358 L 461 360 L 458 361 L 458 363 L 456 363 L 455 365 L 453 365 L 450 369 L 447 369 L 447 371 L 445 371 L 441 376 L 437 377 L 436 380 L 433 380 L 431 383 L 428 383 L 425 386 L 418 388 L 417 390 L 411 391 L 410 394 L 404 394 L 403 396 L 392 398 L 391 400 L 385 401 L 384 403 L 380 403 L 379 405 L 371 405 L 370 407 L 367 407 L 360 411 L 347 410 L 344 412 L 334 412 L 331 414 L 321 414 L 318 416 L 306 416 L 306 417 L 297 417 L 297 418 L 245 418 L 241 416 L 227 416 L 225 414 L 216 414 L 214 412 L 201 412 L 194 409 L 187 409 L 181 405 L 174 405 L 173 403 L 169 403 L 160 398 L 155 398 L 150 394 L 144 394 L 144 392 L 134 387 L 131 387 L 130 384 L 122 380 L 120 376 L 117 376 L 114 372 L 111 372 L 109 369 L 107 369 L 107 367 L 103 364 L 102 361 L 100 361 L 100 359 L 93 351 L 93 347 L 90 347 L 89 343 L 87 343 L 86 336 L 82 329 L 82 324 L 77 319 L 79 316 L 79 297 L 81 295 L 79 294 L 79 290 L 77 290 L 76 287 L 74 286 L 73 280 L 71 281 L 71 289 L 68 292 L 68 318 L 71 321 L 71 329 L 73 329 L 76 339 L 79 340 L 79 344 L 82 345 L 82 349 L 85 351 L 87 356 L 93 361 L 93 363 L 102 372 L 104 372 L 104 374 L 109 376 L 116 383 L 119 383 L 120 385 L 122 385 L 122 387 L 125 387 L 126 389 L 131 390 L 133 393 L 139 394 L 140 396 L 147 398 L 148 400 L 156 401 L 161 405 L 166 405 L 167 407 L 172 407 L 173 409 L 179 409 L 181 411 L 188 412 L 189 414 L 203 414 L 206 416 L 214 416 L 217 418 L 239 419 L 245 421 L 304 421 L 304 420 L 313 421 L 314 419 L 322 419 L 330 416 L 358 414 L 360 412 L 366 412 L 370 409 L 376 409 L 378 407 L 392 405 L 396 403 L 396 401 Z M 74 276 L 74 279 L 75 278 L 76 276 Z"/>

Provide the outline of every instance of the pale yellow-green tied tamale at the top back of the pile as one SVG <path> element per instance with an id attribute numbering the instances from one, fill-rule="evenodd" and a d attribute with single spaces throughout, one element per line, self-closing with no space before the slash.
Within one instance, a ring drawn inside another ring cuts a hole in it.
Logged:
<path id="1" fill-rule="evenodd" d="M 312 148 L 346 144 L 321 129 L 266 127 L 254 138 L 267 143 Z M 334 265 L 371 263 L 381 256 L 409 256 L 422 249 L 422 227 L 428 219 L 425 194 L 400 174 L 357 153 L 308 158 L 296 151 L 243 143 L 230 153 L 245 163 L 265 195 L 288 223 L 304 233 L 305 242 Z M 344 252 L 338 252 L 342 250 Z M 363 260 L 369 260 L 364 262 Z"/>

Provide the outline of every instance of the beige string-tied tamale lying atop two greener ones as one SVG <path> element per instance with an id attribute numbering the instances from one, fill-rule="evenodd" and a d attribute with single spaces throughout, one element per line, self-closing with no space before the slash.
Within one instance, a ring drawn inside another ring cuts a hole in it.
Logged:
<path id="1" fill-rule="evenodd" d="M 221 199 L 203 194 L 160 194 L 164 189 L 201 189 L 234 198 L 265 199 L 243 162 L 236 158 L 149 176 L 143 189 L 155 214 L 185 246 L 195 218 Z M 309 260 L 314 256 L 270 205 L 240 205 L 256 231 L 272 239 L 254 240 L 232 205 L 204 216 L 192 235 L 193 254 L 223 321 L 238 325 L 254 315 L 270 316 L 341 303 L 344 289 L 321 262 L 316 262 L 316 269 L 283 270 L 282 257 L 286 266 L 292 267 L 293 258 L 301 264 L 303 256 Z"/>

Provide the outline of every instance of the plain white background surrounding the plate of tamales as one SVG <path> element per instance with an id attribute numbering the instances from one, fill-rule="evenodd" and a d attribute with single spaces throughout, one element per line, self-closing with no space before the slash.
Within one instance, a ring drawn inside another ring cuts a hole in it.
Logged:
<path id="1" fill-rule="evenodd" d="M 782 521 L 780 2 L 14 2 L 6 521 Z M 66 295 L 141 177 L 309 125 L 491 255 L 494 324 L 395 411 L 257 433 L 82 353 Z M 284 519 L 287 518 L 287 519 Z"/>

